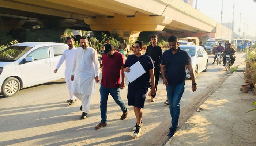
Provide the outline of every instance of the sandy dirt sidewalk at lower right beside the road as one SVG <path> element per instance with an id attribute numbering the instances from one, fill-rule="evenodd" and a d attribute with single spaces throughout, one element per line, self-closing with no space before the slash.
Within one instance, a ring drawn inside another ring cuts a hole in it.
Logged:
<path id="1" fill-rule="evenodd" d="M 170 146 L 256 146 L 256 93 L 243 93 L 234 72 L 166 143 Z M 227 88 L 229 87 L 229 88 Z"/>

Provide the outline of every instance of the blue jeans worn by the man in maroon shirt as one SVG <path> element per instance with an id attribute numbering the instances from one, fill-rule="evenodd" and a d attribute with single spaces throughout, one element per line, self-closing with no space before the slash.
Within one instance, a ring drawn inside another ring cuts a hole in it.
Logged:
<path id="1" fill-rule="evenodd" d="M 113 97 L 114 101 L 119 105 L 123 113 L 127 112 L 127 108 L 124 104 L 124 101 L 120 97 L 120 88 L 105 88 L 101 85 L 99 88 L 99 92 L 101 93 L 101 122 L 107 122 L 107 102 L 109 93 Z"/>

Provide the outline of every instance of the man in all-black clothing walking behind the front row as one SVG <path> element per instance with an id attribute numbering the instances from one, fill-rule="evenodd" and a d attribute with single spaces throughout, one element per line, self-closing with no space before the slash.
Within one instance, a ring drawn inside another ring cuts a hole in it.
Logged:
<path id="1" fill-rule="evenodd" d="M 160 63 L 162 60 L 163 51 L 160 46 L 157 45 L 157 35 L 152 35 L 150 37 L 151 45 L 147 46 L 147 50 L 145 52 L 145 55 L 148 55 L 151 57 L 154 63 L 154 74 L 155 74 L 155 89 L 157 89 L 157 84 L 159 81 L 159 75 L 160 75 Z M 155 101 L 155 96 L 157 93 L 152 94 L 151 93 L 151 102 Z"/>

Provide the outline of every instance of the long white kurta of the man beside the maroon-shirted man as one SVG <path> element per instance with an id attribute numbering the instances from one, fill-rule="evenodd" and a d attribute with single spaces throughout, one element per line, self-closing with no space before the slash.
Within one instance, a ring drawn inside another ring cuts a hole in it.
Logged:
<path id="1" fill-rule="evenodd" d="M 99 61 L 96 50 L 89 46 L 86 49 L 82 47 L 76 49 L 72 68 L 72 75 L 74 75 L 72 93 L 83 95 L 95 93 L 95 77 L 99 76 L 99 73 Z"/>

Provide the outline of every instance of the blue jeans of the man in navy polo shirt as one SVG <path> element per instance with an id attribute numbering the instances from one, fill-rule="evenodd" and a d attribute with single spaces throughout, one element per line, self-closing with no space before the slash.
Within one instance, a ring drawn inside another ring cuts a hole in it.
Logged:
<path id="1" fill-rule="evenodd" d="M 171 129 L 176 130 L 179 116 L 180 116 L 180 100 L 185 89 L 184 84 L 168 85 L 166 86 L 167 97 L 169 101 L 169 108 L 172 117 Z"/>

